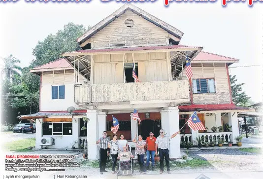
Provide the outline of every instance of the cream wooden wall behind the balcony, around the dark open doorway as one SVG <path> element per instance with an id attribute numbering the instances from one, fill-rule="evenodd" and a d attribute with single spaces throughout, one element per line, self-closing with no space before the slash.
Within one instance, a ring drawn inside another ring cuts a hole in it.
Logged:
<path id="1" fill-rule="evenodd" d="M 95 84 L 114 84 L 124 82 L 124 63 L 133 63 L 132 54 L 95 55 Z M 167 81 L 167 59 L 165 52 L 134 54 L 134 61 L 138 63 L 138 78 L 142 82 Z"/>

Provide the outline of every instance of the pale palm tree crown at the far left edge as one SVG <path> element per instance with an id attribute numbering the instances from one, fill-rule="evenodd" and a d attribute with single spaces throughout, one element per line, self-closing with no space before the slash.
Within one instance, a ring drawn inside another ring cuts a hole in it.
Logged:
<path id="1" fill-rule="evenodd" d="M 16 65 L 16 63 L 20 63 L 20 60 L 13 57 L 13 55 L 9 55 L 9 57 L 1 59 L 3 61 L 3 67 L 1 67 L 0 75 L 2 76 L 5 74 L 5 78 L 11 82 L 11 76 L 13 74 L 20 75 L 19 72 L 21 72 L 22 68 Z"/>

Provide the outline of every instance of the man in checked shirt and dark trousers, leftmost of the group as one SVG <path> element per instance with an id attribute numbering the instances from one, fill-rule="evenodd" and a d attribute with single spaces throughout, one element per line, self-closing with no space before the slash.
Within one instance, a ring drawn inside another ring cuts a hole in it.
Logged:
<path id="1" fill-rule="evenodd" d="M 107 162 L 107 148 L 108 143 L 110 142 L 109 138 L 107 138 L 107 132 L 103 131 L 102 137 L 96 142 L 99 143 L 99 173 L 103 174 L 102 172 L 107 172 L 106 162 Z"/>

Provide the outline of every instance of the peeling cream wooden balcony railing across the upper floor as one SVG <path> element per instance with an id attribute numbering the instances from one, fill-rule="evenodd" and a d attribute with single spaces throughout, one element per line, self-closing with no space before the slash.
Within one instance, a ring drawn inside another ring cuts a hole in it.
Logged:
<path id="1" fill-rule="evenodd" d="M 190 102 L 189 81 L 75 85 L 75 103 L 179 100 Z"/>

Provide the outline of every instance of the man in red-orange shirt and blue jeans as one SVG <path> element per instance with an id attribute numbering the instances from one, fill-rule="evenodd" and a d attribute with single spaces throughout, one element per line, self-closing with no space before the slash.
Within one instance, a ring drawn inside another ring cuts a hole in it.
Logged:
<path id="1" fill-rule="evenodd" d="M 146 143 L 145 143 L 145 149 L 147 148 L 147 151 L 146 151 L 146 156 L 147 156 L 146 170 L 149 170 L 150 155 L 151 155 L 151 160 L 152 160 L 152 170 L 154 170 L 155 141 L 156 141 L 156 138 L 154 137 L 154 134 L 152 132 L 150 132 L 150 136 L 147 137 Z"/>

